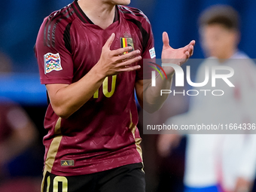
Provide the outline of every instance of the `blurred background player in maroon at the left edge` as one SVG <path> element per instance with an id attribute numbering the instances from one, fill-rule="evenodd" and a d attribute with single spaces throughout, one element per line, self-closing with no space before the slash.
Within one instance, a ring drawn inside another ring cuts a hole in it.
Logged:
<path id="1" fill-rule="evenodd" d="M 0 52 L 0 73 L 12 71 L 11 59 Z M 0 96 L 0 191 L 38 191 L 33 149 L 38 130 L 17 102 Z M 34 173 L 32 173 L 34 172 Z"/>

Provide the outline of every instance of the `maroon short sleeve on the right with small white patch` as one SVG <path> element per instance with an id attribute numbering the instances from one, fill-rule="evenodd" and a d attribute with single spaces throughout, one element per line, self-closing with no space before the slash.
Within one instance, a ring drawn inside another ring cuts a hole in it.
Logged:
<path id="1" fill-rule="evenodd" d="M 156 52 L 154 50 L 154 35 L 151 29 L 151 24 L 148 21 L 148 18 L 145 18 L 142 22 L 142 60 L 139 61 L 139 66 L 141 69 L 136 71 L 136 81 L 142 79 L 150 79 L 152 68 L 152 62 L 156 62 Z"/>

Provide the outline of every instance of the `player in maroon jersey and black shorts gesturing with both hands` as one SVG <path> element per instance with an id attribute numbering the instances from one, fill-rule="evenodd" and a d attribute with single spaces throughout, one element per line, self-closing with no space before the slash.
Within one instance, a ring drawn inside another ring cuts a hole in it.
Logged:
<path id="1" fill-rule="evenodd" d="M 50 99 L 44 120 L 44 179 L 41 191 L 145 191 L 140 105 L 156 111 L 168 80 L 144 80 L 142 59 L 156 57 L 148 18 L 130 0 L 75 0 L 44 19 L 35 44 L 41 84 Z M 177 65 L 193 53 L 163 33 L 162 59 Z M 172 60 L 172 61 L 174 61 Z"/>

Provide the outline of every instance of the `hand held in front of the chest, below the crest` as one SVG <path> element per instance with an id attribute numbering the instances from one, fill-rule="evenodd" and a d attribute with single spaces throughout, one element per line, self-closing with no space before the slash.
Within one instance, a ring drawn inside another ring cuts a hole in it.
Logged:
<path id="1" fill-rule="evenodd" d="M 141 66 L 130 66 L 142 59 L 140 50 L 133 50 L 133 47 L 124 47 L 117 50 L 110 50 L 111 44 L 114 41 L 114 33 L 108 38 L 105 45 L 102 47 L 102 54 L 96 66 L 99 66 L 98 72 L 107 77 L 109 75 L 117 75 L 120 72 L 131 72 L 140 69 Z M 130 50 L 133 50 L 130 53 Z M 126 54 L 123 54 L 126 53 Z"/>

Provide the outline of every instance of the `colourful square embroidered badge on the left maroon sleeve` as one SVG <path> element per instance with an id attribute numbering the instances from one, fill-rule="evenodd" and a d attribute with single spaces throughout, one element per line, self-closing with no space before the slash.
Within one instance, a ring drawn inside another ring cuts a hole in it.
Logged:
<path id="1" fill-rule="evenodd" d="M 60 64 L 59 53 L 46 53 L 44 55 L 44 74 L 60 70 L 62 70 L 62 66 Z"/>

